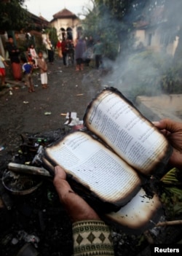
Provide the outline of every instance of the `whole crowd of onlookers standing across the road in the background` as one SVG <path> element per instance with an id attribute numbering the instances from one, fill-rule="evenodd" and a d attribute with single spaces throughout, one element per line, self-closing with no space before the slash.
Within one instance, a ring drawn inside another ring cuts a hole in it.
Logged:
<path id="1" fill-rule="evenodd" d="M 79 37 L 74 42 L 70 38 L 63 37 L 54 46 L 49 38 L 43 40 L 47 50 L 47 60 L 44 54 L 36 51 L 34 44 L 30 44 L 22 56 L 20 50 L 14 42 L 12 36 L 8 36 L 6 50 L 9 55 L 10 65 L 0 55 L 0 77 L 1 85 L 5 85 L 6 67 L 12 69 L 12 75 L 15 81 L 25 80 L 28 92 L 35 91 L 33 86 L 32 74 L 35 69 L 39 69 L 41 77 L 41 86 L 48 88 L 47 81 L 47 61 L 51 64 L 55 61 L 55 48 L 58 50 L 58 58 L 63 60 L 63 66 L 75 66 L 76 71 L 82 71 L 84 66 L 90 66 L 90 61 L 95 58 L 95 69 L 102 66 L 103 43 L 98 39 L 96 42 L 90 36 L 88 39 Z"/>

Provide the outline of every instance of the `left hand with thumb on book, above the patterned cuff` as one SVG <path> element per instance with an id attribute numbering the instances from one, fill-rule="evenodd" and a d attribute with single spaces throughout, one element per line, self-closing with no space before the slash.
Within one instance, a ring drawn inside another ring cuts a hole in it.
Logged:
<path id="1" fill-rule="evenodd" d="M 74 190 L 66 181 L 66 172 L 60 166 L 55 166 L 53 184 L 58 192 L 60 202 L 65 206 L 73 222 L 79 220 L 100 220 L 100 217 L 90 205 L 74 193 Z"/>

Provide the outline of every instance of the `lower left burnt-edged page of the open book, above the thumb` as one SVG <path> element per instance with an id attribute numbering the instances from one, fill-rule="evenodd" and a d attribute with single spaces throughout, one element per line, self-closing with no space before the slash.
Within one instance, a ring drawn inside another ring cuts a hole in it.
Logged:
<path id="1" fill-rule="evenodd" d="M 131 166 L 82 131 L 47 147 L 44 158 L 53 166 L 62 166 L 69 177 L 103 202 L 123 206 L 141 188 L 141 178 Z"/>

